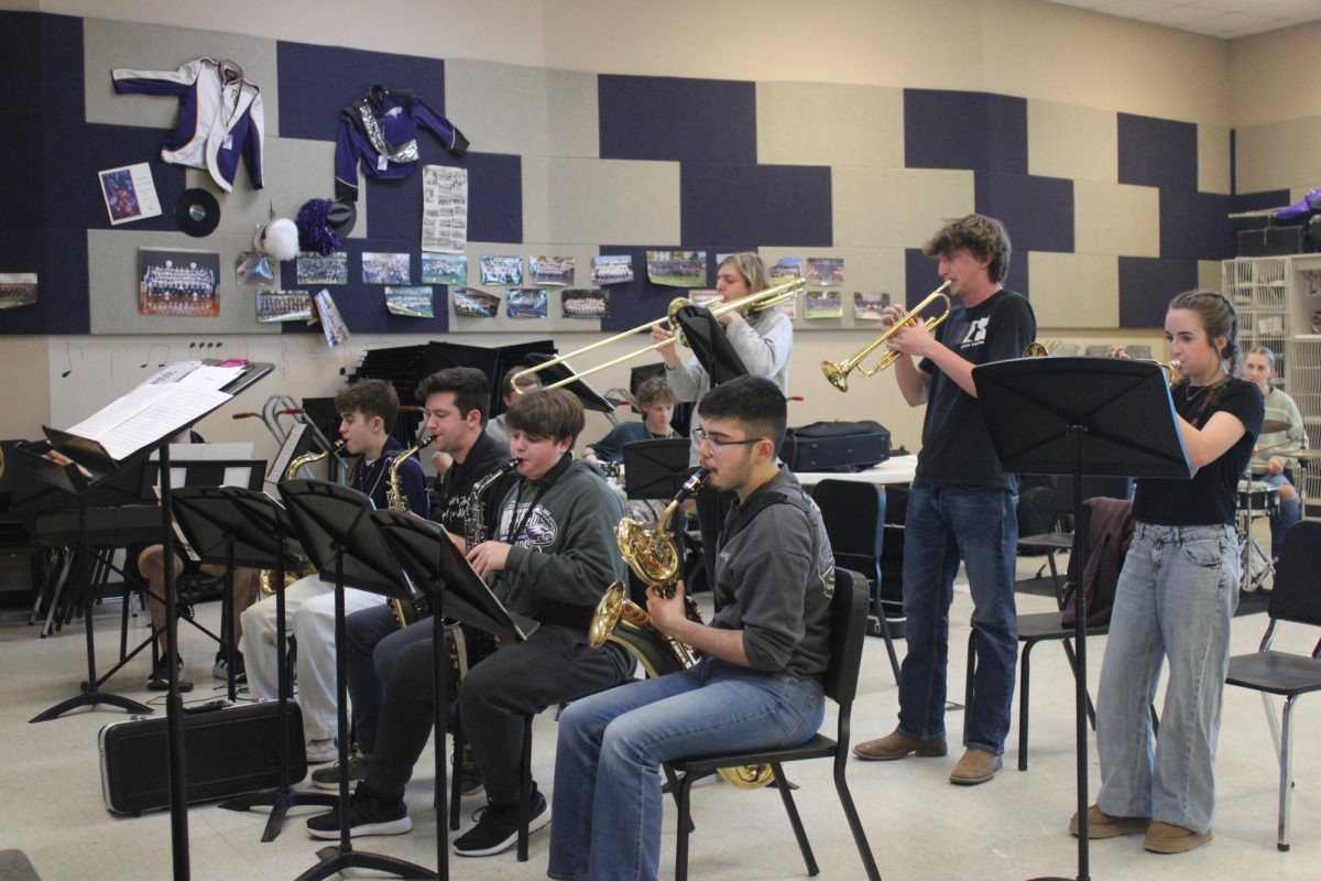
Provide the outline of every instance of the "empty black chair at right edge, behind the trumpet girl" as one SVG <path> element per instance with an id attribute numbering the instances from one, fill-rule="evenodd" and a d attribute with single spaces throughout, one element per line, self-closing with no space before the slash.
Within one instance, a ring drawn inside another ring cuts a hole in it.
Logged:
<path id="1" fill-rule="evenodd" d="M 1269 622 L 1262 646 L 1250 655 L 1230 658 L 1225 682 L 1262 692 L 1266 719 L 1271 725 L 1275 752 L 1280 758 L 1280 816 L 1275 847 L 1289 849 L 1289 795 L 1293 791 L 1292 756 L 1293 701 L 1300 695 L 1321 691 L 1321 642 L 1310 655 L 1272 651 L 1271 638 L 1279 621 L 1321 627 L 1321 523 L 1300 520 L 1284 536 L 1284 548 L 1275 568 L 1275 588 L 1268 608 Z M 1283 725 L 1276 725 L 1267 695 L 1284 697 Z"/>

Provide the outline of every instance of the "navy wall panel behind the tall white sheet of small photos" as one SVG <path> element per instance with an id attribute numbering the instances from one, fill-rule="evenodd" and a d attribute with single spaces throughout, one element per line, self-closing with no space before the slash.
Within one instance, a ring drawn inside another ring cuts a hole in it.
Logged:
<path id="1" fill-rule="evenodd" d="M 468 169 L 468 239 L 523 242 L 523 159 L 507 153 L 468 153 L 456 162 L 436 143 L 419 141 L 421 165 Z M 421 168 L 398 181 L 361 178 L 367 197 L 367 232 L 384 239 L 412 239 L 420 247 Z"/>

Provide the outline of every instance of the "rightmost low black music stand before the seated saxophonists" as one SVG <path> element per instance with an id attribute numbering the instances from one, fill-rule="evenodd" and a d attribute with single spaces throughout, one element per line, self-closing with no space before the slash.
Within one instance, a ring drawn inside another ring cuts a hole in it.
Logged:
<path id="1" fill-rule="evenodd" d="M 445 651 L 445 626 L 441 618 L 448 616 L 509 642 L 526 639 L 526 634 L 536 627 L 536 622 L 523 618 L 520 626 L 437 523 L 400 511 L 373 511 L 371 519 L 380 527 L 386 544 L 390 546 L 390 551 L 408 579 L 431 594 L 435 655 L 432 711 L 436 726 L 436 865 L 444 881 L 449 877 L 449 824 L 445 808 L 445 671 L 449 667 L 449 656 Z M 527 799 L 527 793 L 519 794 L 520 810 L 526 810 Z M 526 819 L 522 820 L 520 828 L 527 828 Z"/>

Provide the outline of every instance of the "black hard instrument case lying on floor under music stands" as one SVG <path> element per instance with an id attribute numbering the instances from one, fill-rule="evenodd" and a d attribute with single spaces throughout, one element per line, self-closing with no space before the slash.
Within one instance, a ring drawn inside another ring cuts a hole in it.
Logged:
<path id="1" fill-rule="evenodd" d="M 259 793 L 280 785 L 280 704 L 225 705 L 184 711 L 188 803 Z M 165 715 L 135 716 L 100 729 L 100 789 L 115 814 L 169 807 Z M 308 774 L 303 712 L 288 704 L 289 783 Z"/>

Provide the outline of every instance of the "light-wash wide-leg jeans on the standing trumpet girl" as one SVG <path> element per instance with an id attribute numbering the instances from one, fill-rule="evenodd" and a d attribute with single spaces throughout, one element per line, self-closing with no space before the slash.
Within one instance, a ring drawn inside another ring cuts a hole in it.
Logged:
<path id="1" fill-rule="evenodd" d="M 1149 816 L 1198 833 L 1211 828 L 1238 580 L 1232 526 L 1137 524 L 1115 590 L 1096 695 L 1096 806 L 1106 814 Z M 1153 753 L 1147 705 L 1166 658 L 1169 684 Z"/>

